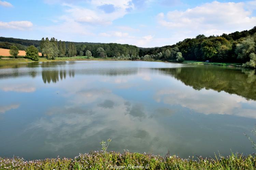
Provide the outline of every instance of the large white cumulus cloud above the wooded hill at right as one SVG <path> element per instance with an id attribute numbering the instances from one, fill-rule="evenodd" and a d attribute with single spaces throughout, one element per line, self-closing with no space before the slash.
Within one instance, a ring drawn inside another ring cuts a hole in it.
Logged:
<path id="1" fill-rule="evenodd" d="M 249 2 L 248 2 L 249 3 Z M 252 3 L 252 2 L 250 2 Z M 213 1 L 186 11 L 170 11 L 157 15 L 160 26 L 174 30 L 189 30 L 206 35 L 229 33 L 253 28 L 256 17 L 252 10 L 246 9 L 246 3 Z"/>

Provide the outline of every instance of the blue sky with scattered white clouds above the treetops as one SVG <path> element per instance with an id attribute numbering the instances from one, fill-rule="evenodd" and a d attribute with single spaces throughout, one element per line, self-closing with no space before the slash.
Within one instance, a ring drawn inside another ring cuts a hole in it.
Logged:
<path id="1" fill-rule="evenodd" d="M 0 0 L 0 36 L 138 47 L 256 26 L 256 0 Z"/>

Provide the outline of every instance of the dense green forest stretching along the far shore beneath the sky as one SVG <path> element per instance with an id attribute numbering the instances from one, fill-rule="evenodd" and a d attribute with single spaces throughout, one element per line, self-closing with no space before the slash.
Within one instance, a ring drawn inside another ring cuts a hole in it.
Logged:
<path id="1" fill-rule="evenodd" d="M 113 57 L 115 60 L 171 61 L 197 60 L 209 62 L 244 63 L 244 67 L 256 67 L 256 27 L 251 30 L 222 34 L 221 36 L 198 35 L 170 46 L 139 48 L 116 43 L 75 43 L 58 41 L 55 38 L 27 40 L 0 37 L 0 48 L 10 49 L 16 45 L 25 50 L 33 45 L 44 56 L 54 59 L 57 56 L 92 55 L 94 57 Z"/>

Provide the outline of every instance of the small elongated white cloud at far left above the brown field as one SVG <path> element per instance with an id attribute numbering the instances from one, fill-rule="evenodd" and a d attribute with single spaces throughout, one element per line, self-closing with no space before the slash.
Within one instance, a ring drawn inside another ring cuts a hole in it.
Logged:
<path id="1" fill-rule="evenodd" d="M 33 26 L 30 21 L 11 21 L 2 22 L 0 21 L 0 29 L 15 29 L 15 30 L 25 30 Z"/>

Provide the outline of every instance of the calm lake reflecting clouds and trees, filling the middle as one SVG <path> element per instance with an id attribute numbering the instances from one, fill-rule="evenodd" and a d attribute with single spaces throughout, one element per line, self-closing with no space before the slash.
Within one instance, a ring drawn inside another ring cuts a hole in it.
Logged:
<path id="1" fill-rule="evenodd" d="M 255 150 L 254 70 L 142 61 L 0 64 L 0 156 Z"/>

